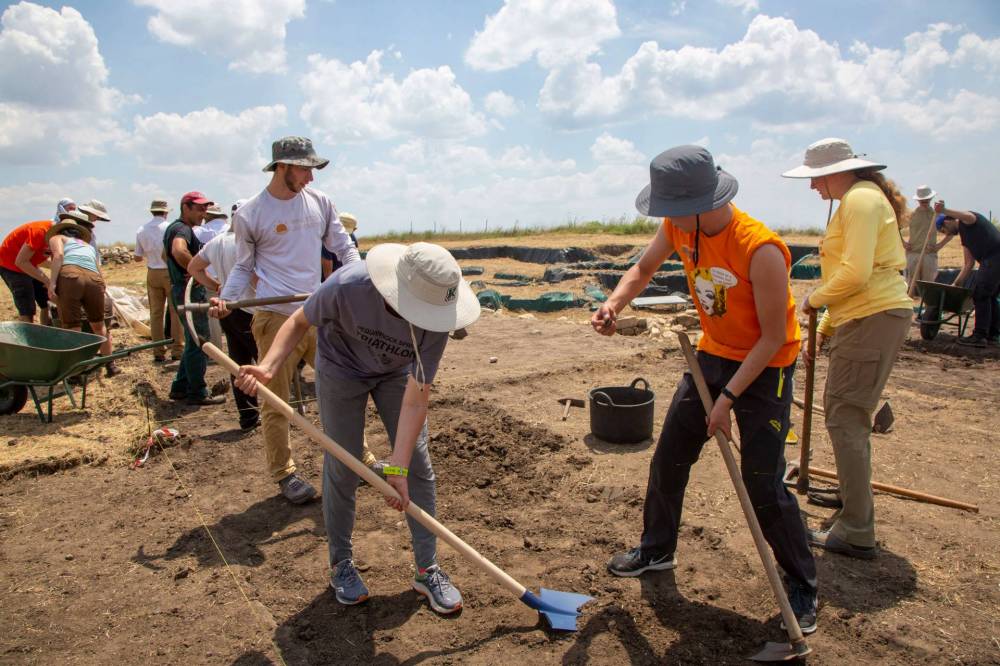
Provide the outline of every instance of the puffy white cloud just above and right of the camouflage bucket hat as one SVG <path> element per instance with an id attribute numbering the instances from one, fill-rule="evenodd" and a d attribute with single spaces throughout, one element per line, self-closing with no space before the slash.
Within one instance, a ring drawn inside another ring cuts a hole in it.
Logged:
<path id="1" fill-rule="evenodd" d="M 309 56 L 299 79 L 302 119 L 328 141 L 482 134 L 486 120 L 450 67 L 411 71 L 402 81 L 382 70 L 382 52 L 350 64 Z"/>

